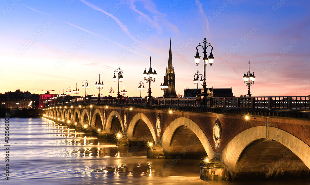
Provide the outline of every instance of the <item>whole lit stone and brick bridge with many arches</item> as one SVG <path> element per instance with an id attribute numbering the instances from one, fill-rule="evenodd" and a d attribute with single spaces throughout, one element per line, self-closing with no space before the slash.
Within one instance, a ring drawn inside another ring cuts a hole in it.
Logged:
<path id="1" fill-rule="evenodd" d="M 310 177 L 309 105 L 297 110 L 251 107 L 251 102 L 249 107 L 227 106 L 232 99 L 224 98 L 221 106 L 212 100 L 212 107 L 115 101 L 51 105 L 43 114 L 101 138 L 120 134 L 120 145 L 148 145 L 149 158 L 202 158 L 203 180 Z"/>

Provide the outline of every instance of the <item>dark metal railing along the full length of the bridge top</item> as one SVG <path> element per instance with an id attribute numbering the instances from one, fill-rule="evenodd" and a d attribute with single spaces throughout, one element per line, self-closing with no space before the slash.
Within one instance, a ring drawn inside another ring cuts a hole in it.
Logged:
<path id="1" fill-rule="evenodd" d="M 262 108 L 282 110 L 309 110 L 309 96 L 266 96 L 266 97 L 210 97 L 210 107 Z M 87 104 L 98 104 L 97 99 L 86 100 Z M 145 98 L 100 99 L 99 104 L 110 105 L 149 105 Z M 76 105 L 76 102 L 55 104 L 59 106 Z M 152 98 L 156 106 L 196 107 L 196 98 Z"/>

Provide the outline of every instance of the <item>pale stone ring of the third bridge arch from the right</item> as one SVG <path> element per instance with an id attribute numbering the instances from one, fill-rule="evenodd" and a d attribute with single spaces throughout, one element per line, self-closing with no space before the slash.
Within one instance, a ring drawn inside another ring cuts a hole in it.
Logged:
<path id="1" fill-rule="evenodd" d="M 146 123 L 150 133 L 152 134 L 153 140 L 155 142 L 157 142 L 157 137 L 156 137 L 156 133 L 155 130 L 153 128 L 152 123 L 150 122 L 150 120 L 148 119 L 148 117 L 143 114 L 143 113 L 138 113 L 136 114 L 130 121 L 128 128 L 127 128 L 127 137 L 129 140 L 134 140 L 134 131 L 135 131 L 135 126 L 137 124 L 139 124 L 140 121 L 143 121 L 144 123 Z M 149 136 L 147 136 L 149 137 Z"/>

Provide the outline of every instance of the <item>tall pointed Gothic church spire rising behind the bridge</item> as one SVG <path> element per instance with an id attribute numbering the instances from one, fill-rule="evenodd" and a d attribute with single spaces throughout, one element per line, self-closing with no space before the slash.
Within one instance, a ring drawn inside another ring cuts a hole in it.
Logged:
<path id="1" fill-rule="evenodd" d="M 172 66 L 172 53 L 171 53 L 171 39 L 170 39 L 170 48 L 169 48 L 169 57 L 168 57 L 168 67 L 166 68 L 165 83 L 168 85 L 168 89 L 164 94 L 165 98 L 175 98 L 175 72 L 174 67 Z"/>

